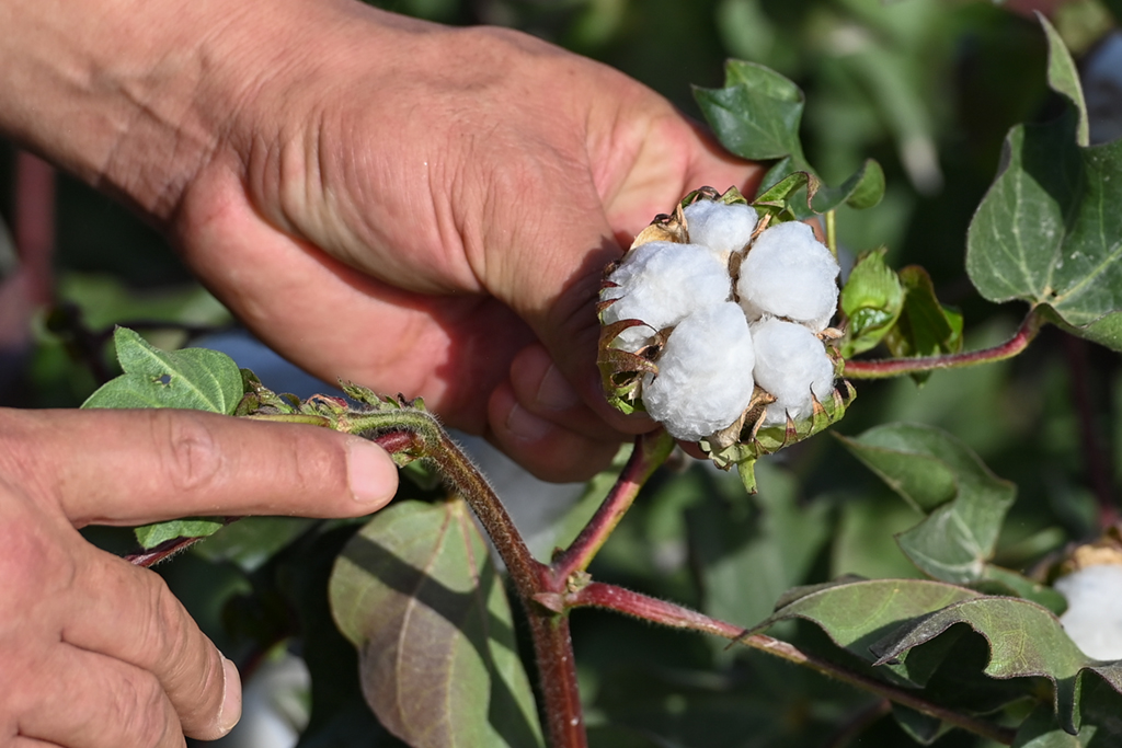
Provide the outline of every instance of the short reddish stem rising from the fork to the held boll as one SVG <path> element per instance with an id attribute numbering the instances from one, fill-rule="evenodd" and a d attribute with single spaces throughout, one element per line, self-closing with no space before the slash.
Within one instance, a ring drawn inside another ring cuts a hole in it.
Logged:
<path id="1" fill-rule="evenodd" d="M 554 560 L 553 574 L 558 580 L 568 580 L 576 572 L 588 569 L 592 557 L 631 508 L 640 489 L 659 465 L 666 461 L 673 449 L 674 440 L 663 428 L 635 437 L 635 451 L 632 452 L 631 459 L 604 499 L 604 504 L 569 548 Z"/>

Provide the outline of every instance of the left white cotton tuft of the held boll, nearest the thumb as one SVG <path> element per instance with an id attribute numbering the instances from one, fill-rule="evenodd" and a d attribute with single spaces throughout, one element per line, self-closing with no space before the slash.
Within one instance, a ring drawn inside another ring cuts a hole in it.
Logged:
<path id="1" fill-rule="evenodd" d="M 631 250 L 608 280 L 604 299 L 618 299 L 603 313 L 604 324 L 642 320 L 646 326 L 629 327 L 616 345 L 637 351 L 651 335 L 678 324 L 687 315 L 723 304 L 732 294 L 727 268 L 703 247 L 652 241 Z"/>

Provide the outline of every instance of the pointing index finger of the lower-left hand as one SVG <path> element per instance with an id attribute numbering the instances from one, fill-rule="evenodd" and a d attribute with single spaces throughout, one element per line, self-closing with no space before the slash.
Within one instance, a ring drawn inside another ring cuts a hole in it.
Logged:
<path id="1" fill-rule="evenodd" d="M 0 409 L 0 433 L 13 437 L 16 474 L 75 526 L 353 517 L 383 507 L 397 488 L 381 447 L 316 426 L 174 409 Z"/>

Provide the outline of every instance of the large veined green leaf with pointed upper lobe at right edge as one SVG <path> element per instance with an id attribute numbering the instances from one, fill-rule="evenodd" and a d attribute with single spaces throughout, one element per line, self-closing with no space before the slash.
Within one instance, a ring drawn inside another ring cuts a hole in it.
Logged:
<path id="1" fill-rule="evenodd" d="M 1042 22 L 1049 84 L 1072 105 L 1054 122 L 1019 126 L 1005 138 L 997 177 L 967 233 L 966 269 L 985 298 L 1045 305 L 1076 334 L 1122 350 L 1118 317 L 1102 323 L 1122 312 L 1122 141 L 1084 147 L 1076 71 Z"/>

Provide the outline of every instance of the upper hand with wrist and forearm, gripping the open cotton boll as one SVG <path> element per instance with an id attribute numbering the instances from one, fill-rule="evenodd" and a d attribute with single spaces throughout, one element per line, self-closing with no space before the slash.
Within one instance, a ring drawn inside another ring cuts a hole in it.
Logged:
<path id="1" fill-rule="evenodd" d="M 64 89 L 85 102 L 79 142 L 31 113 L 8 130 L 162 223 L 269 345 L 422 396 L 548 479 L 587 478 L 653 427 L 599 390 L 600 274 L 687 192 L 756 167 L 637 82 L 515 31 L 352 0 L 101 3 L 127 28 L 70 6 L 52 21 L 99 72 Z M 122 37 L 148 44 L 128 63 L 98 47 Z M 98 91 L 119 94 L 112 114 L 90 114 Z"/>

